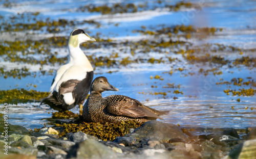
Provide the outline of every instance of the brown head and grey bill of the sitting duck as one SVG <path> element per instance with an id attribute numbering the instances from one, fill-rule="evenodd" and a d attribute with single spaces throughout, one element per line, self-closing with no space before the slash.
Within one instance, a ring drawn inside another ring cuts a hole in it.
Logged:
<path id="1" fill-rule="evenodd" d="M 104 92 L 104 91 L 119 91 L 117 88 L 112 86 L 106 77 L 100 76 L 95 78 L 91 85 L 91 93 L 92 92 Z"/>

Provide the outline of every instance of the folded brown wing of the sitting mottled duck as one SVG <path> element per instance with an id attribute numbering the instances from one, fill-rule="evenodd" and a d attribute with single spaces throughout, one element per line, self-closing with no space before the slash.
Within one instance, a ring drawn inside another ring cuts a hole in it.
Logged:
<path id="1" fill-rule="evenodd" d="M 107 102 L 108 111 L 112 114 L 133 118 L 153 117 L 162 119 L 157 114 L 143 108 L 143 104 L 136 99 L 123 95 L 111 95 L 104 99 Z"/>

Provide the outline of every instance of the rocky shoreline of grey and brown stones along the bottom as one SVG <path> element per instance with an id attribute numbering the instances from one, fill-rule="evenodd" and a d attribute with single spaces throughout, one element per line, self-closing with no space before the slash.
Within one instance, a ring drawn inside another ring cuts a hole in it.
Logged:
<path id="1" fill-rule="evenodd" d="M 62 122 L 67 120 L 56 120 Z M 60 137 L 63 127 L 35 132 L 9 125 L 6 155 L 1 126 L 4 158 L 256 158 L 255 127 L 207 129 L 148 121 L 123 137 L 102 141 L 81 131 Z"/>

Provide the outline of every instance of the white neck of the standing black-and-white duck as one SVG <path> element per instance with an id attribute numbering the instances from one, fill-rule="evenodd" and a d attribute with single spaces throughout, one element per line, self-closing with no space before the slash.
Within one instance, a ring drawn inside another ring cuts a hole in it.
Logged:
<path id="1" fill-rule="evenodd" d="M 86 55 L 83 53 L 79 45 L 76 47 L 69 45 L 68 63 L 75 64 L 75 65 L 84 65 L 87 68 L 90 68 L 91 70 L 93 70 L 93 67 L 90 61 L 87 59 Z"/>

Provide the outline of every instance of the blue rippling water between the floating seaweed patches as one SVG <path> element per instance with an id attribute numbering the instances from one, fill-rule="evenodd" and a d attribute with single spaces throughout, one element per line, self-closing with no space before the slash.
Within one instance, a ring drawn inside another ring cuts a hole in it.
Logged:
<path id="1" fill-rule="evenodd" d="M 94 3 L 96 5 L 104 4 L 107 1 L 36 1 L 36 2 L 17 2 L 18 5 L 10 8 L 0 7 L 0 15 L 6 19 L 8 16 L 16 15 L 16 12 L 40 12 L 41 19 L 78 19 L 90 20 L 94 19 L 101 23 L 100 28 L 94 25 L 82 24 L 78 28 L 88 28 L 91 32 L 89 35 L 94 37 L 97 32 L 102 33 L 104 37 L 110 37 L 120 41 L 140 41 L 147 36 L 133 33 L 133 30 L 140 29 L 141 25 L 149 28 L 157 27 L 159 24 L 174 25 L 182 24 L 194 25 L 196 27 L 216 27 L 223 28 L 222 32 L 217 32 L 214 36 L 209 36 L 206 39 L 183 39 L 190 42 L 193 46 L 205 43 L 218 43 L 225 46 L 234 46 L 243 49 L 243 54 L 238 51 L 217 51 L 210 52 L 211 55 L 224 57 L 227 60 L 234 60 L 241 57 L 255 57 L 255 52 L 246 51 L 247 49 L 255 48 L 256 44 L 256 2 L 255 1 L 207 1 L 202 5 L 202 9 L 182 9 L 178 12 L 169 12 L 164 10 L 144 11 L 142 13 L 125 13 L 114 15 L 101 15 L 100 13 L 82 13 L 77 12 L 75 8 Z M 118 1 L 124 2 L 124 1 Z M 143 1 L 128 1 L 126 3 L 141 3 Z M 153 1 L 152 1 L 153 2 Z M 167 4 L 175 4 L 168 2 Z M 198 1 L 192 1 L 198 4 Z M 135 4 L 136 4 L 135 3 Z M 150 4 L 150 5 L 155 5 Z M 56 7 L 57 6 L 57 7 Z M 201 5 L 200 5 L 201 6 Z M 3 19 L 2 19 L 3 20 Z M 25 19 L 26 21 L 26 19 Z M 118 27 L 114 26 L 118 23 Z M 36 37 L 30 36 L 32 39 L 44 39 L 51 36 L 68 36 L 73 28 L 63 30 L 61 33 L 49 34 L 41 31 Z M 38 33 L 38 32 L 37 32 Z M 26 34 L 25 34 L 26 35 Z M 5 33 L 0 34 L 1 39 L 15 40 L 15 37 L 20 39 L 24 37 L 24 33 L 17 33 L 14 37 L 5 36 Z M 25 36 L 26 37 L 26 36 Z M 181 38 L 182 39 L 182 38 Z M 127 46 L 122 46 L 126 48 Z M 181 46 L 182 47 L 182 46 Z M 83 49 L 86 55 L 93 57 L 110 56 L 116 48 L 105 47 L 99 49 Z M 59 57 L 68 55 L 67 48 L 51 48 L 51 51 L 58 51 Z M 186 61 L 181 54 L 175 54 L 175 50 L 169 51 L 168 54 L 159 54 L 157 51 L 147 52 L 146 56 L 142 52 L 137 52 L 135 56 L 119 52 L 119 58 L 130 56 L 133 59 L 155 59 L 166 58 L 170 56 L 177 60 L 168 63 L 152 64 L 152 63 L 132 63 L 126 66 L 113 67 L 96 67 L 95 76 L 105 76 L 109 79 L 110 84 L 117 87 L 119 92 L 104 92 L 103 96 L 112 94 L 122 94 L 142 101 L 145 105 L 149 105 L 157 110 L 169 110 L 168 115 L 163 116 L 167 123 L 180 124 L 182 126 L 201 126 L 201 127 L 234 127 L 245 128 L 255 126 L 256 124 L 256 98 L 252 96 L 232 96 L 226 95 L 223 90 L 232 89 L 255 89 L 252 86 L 234 86 L 234 85 L 216 85 L 217 82 L 230 82 L 232 78 L 243 78 L 248 81 L 256 78 L 254 67 L 246 67 L 244 65 L 229 67 L 228 65 L 217 66 L 216 64 L 205 64 L 202 62 L 190 63 Z M 206 55 L 208 52 L 201 52 Z M 32 55 L 33 56 L 33 55 Z M 47 58 L 42 56 L 42 58 Z M 28 65 L 15 62 L 4 61 L 4 56 L 0 56 L 1 65 L 10 70 L 23 66 L 30 67 L 31 71 L 37 72 L 37 76 L 22 77 L 21 80 L 8 77 L 5 79 L 0 77 L 0 89 L 34 89 L 37 91 L 49 91 L 53 75 L 42 75 L 39 73 L 39 65 Z M 43 69 L 58 69 L 58 65 L 47 66 Z M 178 70 L 183 68 L 183 71 Z M 222 74 L 213 75 L 209 72 L 208 75 L 198 73 L 200 68 L 205 70 L 218 68 L 216 72 L 222 71 Z M 168 72 L 172 70 L 173 73 Z M 113 73 L 108 73 L 112 71 Z M 194 73 L 190 75 L 189 73 Z M 151 79 L 151 76 L 161 76 L 163 80 Z M 176 88 L 165 88 L 168 84 L 177 86 Z M 37 87 L 27 86 L 29 84 Z M 180 88 L 178 85 L 180 84 Z M 174 91 L 182 91 L 183 94 L 175 94 Z M 166 95 L 157 94 L 155 92 L 165 92 Z M 153 94 L 153 95 L 152 95 Z M 174 99 L 174 97 L 176 99 Z M 240 102 L 237 101 L 240 99 Z M 9 104 L 9 123 L 23 125 L 26 128 L 40 128 L 44 124 L 51 125 L 48 120 L 54 110 L 47 106 L 38 107 L 39 102 L 23 103 L 18 105 Z M 3 104 L 2 104 L 3 106 Z M 71 111 L 78 113 L 78 107 Z"/>

